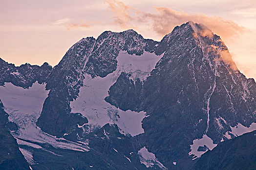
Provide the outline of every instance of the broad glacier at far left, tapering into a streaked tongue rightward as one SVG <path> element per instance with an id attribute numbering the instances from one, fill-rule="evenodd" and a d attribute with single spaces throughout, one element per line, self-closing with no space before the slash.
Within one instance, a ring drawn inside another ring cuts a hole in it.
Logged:
<path id="1" fill-rule="evenodd" d="M 48 90 L 45 90 L 45 84 L 40 85 L 38 82 L 28 89 L 18 87 L 12 83 L 5 83 L 4 86 L 0 86 L 0 99 L 4 105 L 4 110 L 9 114 L 9 120 L 19 126 L 19 130 L 11 132 L 11 134 L 16 138 L 32 142 L 48 143 L 55 148 L 89 151 L 87 146 L 51 136 L 36 125 L 48 92 Z M 20 140 L 18 142 L 40 149 L 39 145 Z"/>

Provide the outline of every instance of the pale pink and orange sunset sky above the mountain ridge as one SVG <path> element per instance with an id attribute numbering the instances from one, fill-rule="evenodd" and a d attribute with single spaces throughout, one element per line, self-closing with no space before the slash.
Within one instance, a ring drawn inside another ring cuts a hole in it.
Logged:
<path id="1" fill-rule="evenodd" d="M 256 80 L 256 0 L 0 0 L 0 58 L 55 66 L 83 37 L 134 29 L 160 41 L 189 20 L 220 35 Z"/>

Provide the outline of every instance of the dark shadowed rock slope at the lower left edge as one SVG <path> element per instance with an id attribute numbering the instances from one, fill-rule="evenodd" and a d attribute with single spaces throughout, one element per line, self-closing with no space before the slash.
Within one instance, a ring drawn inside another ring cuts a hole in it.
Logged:
<path id="1" fill-rule="evenodd" d="M 6 123 L 9 121 L 8 116 L 0 101 L 0 169 L 29 170 L 29 165 L 19 150 L 16 139 L 5 128 Z"/>

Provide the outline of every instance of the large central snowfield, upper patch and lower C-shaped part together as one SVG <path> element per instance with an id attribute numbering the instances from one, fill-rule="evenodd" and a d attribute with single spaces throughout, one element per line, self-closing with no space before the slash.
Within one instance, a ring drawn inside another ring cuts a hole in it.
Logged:
<path id="1" fill-rule="evenodd" d="M 142 120 L 146 112 L 123 111 L 105 101 L 108 90 L 122 72 L 130 73 L 132 80 L 145 80 L 156 63 L 163 56 L 144 52 L 140 56 L 130 55 L 126 51 L 120 51 L 117 57 L 117 69 L 106 77 L 91 78 L 85 74 L 82 87 L 79 89 L 78 98 L 70 102 L 72 112 L 82 113 L 88 119 L 88 125 L 92 128 L 102 127 L 105 124 L 117 124 L 122 134 L 136 136 L 144 133 Z"/>

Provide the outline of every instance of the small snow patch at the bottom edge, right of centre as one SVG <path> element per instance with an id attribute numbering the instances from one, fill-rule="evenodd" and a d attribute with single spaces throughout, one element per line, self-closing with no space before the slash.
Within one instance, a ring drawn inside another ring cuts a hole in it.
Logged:
<path id="1" fill-rule="evenodd" d="M 141 164 L 144 164 L 147 168 L 153 168 L 154 165 L 157 165 L 159 168 L 163 170 L 167 170 L 167 168 L 157 160 L 154 153 L 149 153 L 146 147 L 141 148 L 138 151 L 138 155 L 140 156 Z"/>

